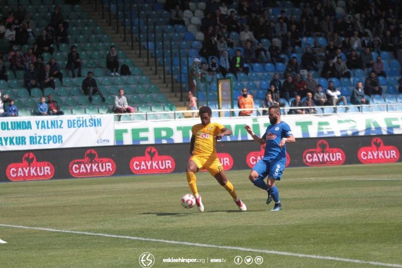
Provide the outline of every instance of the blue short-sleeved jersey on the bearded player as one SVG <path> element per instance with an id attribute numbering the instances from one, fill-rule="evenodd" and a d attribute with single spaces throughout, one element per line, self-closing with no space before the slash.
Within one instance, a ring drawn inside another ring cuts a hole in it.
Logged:
<path id="1" fill-rule="evenodd" d="M 261 138 L 265 140 L 265 153 L 262 159 L 274 160 L 274 159 L 286 159 L 286 147 L 280 148 L 278 145 L 280 140 L 293 136 L 290 127 L 285 122 L 280 122 L 276 125 L 269 125 L 265 134 Z"/>

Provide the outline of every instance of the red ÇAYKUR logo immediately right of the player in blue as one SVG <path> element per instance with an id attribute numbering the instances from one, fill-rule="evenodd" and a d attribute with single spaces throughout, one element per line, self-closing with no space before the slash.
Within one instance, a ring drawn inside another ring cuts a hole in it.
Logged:
<path id="1" fill-rule="evenodd" d="M 319 140 L 317 148 L 303 153 L 303 161 L 308 166 L 341 165 L 345 162 L 345 153 L 340 148 L 330 148 L 326 140 Z"/>

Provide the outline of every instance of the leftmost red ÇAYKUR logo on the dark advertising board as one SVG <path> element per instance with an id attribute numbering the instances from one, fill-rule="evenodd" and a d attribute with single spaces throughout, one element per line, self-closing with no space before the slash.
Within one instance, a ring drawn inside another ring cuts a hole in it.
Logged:
<path id="1" fill-rule="evenodd" d="M 10 181 L 49 180 L 54 175 L 50 162 L 37 162 L 33 153 L 26 153 L 22 163 L 12 163 L 6 169 Z"/>

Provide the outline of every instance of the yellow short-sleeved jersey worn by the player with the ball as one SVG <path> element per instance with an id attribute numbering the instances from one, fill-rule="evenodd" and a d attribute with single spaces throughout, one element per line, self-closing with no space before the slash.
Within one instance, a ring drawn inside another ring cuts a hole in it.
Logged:
<path id="1" fill-rule="evenodd" d="M 194 152 L 192 155 L 216 155 L 216 135 L 221 133 L 223 128 L 225 127 L 218 123 L 210 123 L 206 126 L 203 124 L 194 125 L 191 129 L 192 135 L 195 136 Z"/>

